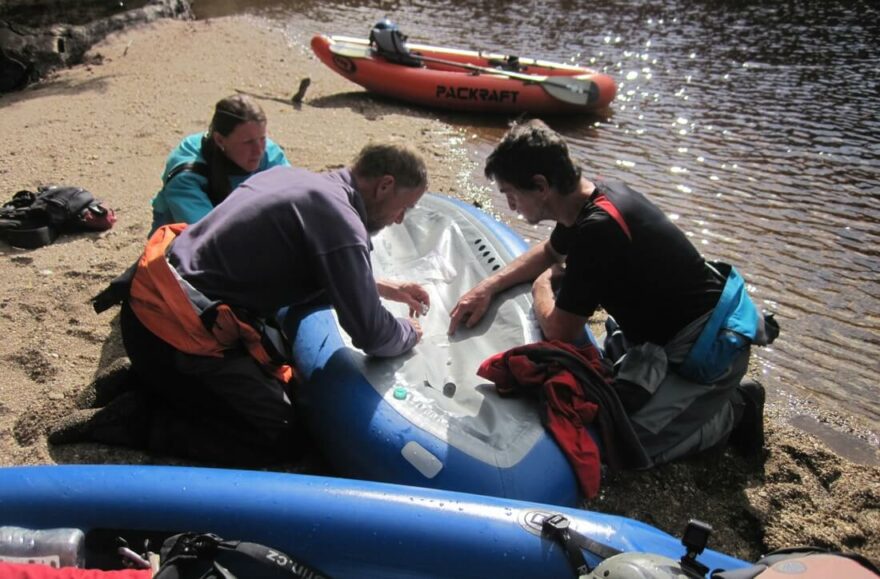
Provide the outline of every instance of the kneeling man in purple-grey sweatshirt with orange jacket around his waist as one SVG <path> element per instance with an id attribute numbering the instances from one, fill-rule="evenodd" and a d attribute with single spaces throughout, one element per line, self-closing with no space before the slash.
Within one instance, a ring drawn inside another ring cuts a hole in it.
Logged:
<path id="1" fill-rule="evenodd" d="M 50 442 L 92 440 L 235 466 L 289 457 L 300 443 L 292 384 L 267 371 L 243 341 L 206 348 L 192 336 L 204 325 L 213 340 L 215 319 L 225 315 L 213 312 L 226 308 L 263 331 L 282 307 L 330 304 L 367 354 L 409 351 L 421 338 L 415 317 L 429 305 L 428 293 L 415 283 L 376 280 L 370 235 L 400 223 L 426 188 L 417 153 L 368 145 L 350 169 L 275 167 L 176 237 L 160 229 L 145 252 L 152 244 L 158 269 L 142 259 L 121 312 L 132 391 L 74 413 Z M 156 251 L 163 234 L 173 241 Z M 395 318 L 380 297 L 406 303 L 410 317 Z M 192 311 L 198 315 L 187 325 Z"/>

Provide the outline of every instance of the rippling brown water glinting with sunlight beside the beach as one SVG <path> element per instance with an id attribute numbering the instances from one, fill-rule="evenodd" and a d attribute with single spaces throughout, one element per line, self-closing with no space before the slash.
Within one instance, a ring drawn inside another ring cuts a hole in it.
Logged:
<path id="1" fill-rule="evenodd" d="M 852 452 L 876 451 L 875 2 L 196 0 L 194 9 L 199 18 L 268 18 L 301 45 L 316 32 L 366 36 L 389 16 L 413 41 L 612 74 L 619 94 L 606 116 L 548 119 L 551 126 L 587 175 L 623 179 L 648 194 L 706 257 L 737 265 L 759 307 L 777 312 L 783 335 L 754 357 L 771 399 L 791 409 L 793 422 L 829 430 L 816 408 L 835 408 L 875 433 Z M 478 163 L 507 121 L 438 116 L 467 128 Z M 481 166 L 474 183 L 488 188 Z M 494 209 L 511 217 L 497 195 Z M 531 238 L 549 232 L 518 228 Z"/>

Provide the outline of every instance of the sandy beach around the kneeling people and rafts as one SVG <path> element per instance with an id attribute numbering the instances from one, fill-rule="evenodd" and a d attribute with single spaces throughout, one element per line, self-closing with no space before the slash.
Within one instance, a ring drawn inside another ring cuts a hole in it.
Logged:
<path id="1" fill-rule="evenodd" d="M 290 96 L 311 86 L 301 106 Z M 90 298 L 143 249 L 150 199 L 179 140 L 207 127 L 214 102 L 240 91 L 260 102 L 270 136 L 294 165 L 348 164 L 367 142 L 423 152 L 430 190 L 471 190 L 461 129 L 430 112 L 373 99 L 284 35 L 244 18 L 162 21 L 114 35 L 87 64 L 0 96 L 0 195 L 78 185 L 117 214 L 105 233 L 63 236 L 37 250 L 0 242 L 0 465 L 168 464 L 93 444 L 50 447 L 48 427 L 78 404 L 96 373 L 124 355 L 113 311 Z M 767 410 L 760 460 L 725 451 L 648 472 L 610 473 L 585 505 L 673 534 L 710 523 L 710 547 L 755 559 L 811 544 L 880 560 L 880 467 L 841 458 Z"/>

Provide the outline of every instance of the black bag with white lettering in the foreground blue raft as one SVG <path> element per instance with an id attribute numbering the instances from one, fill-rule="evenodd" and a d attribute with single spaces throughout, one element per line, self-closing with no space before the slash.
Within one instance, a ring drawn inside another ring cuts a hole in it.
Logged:
<path id="1" fill-rule="evenodd" d="M 276 549 L 217 535 L 182 533 L 162 545 L 153 579 L 329 579 Z"/>

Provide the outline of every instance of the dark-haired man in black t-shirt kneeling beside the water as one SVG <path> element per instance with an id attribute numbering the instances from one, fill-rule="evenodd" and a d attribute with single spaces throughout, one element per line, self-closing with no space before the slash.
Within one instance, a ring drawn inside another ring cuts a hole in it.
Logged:
<path id="1" fill-rule="evenodd" d="M 485 173 L 529 223 L 553 220 L 556 227 L 459 299 L 450 334 L 475 326 L 494 296 L 524 282 L 533 284 L 535 316 L 548 341 L 582 341 L 585 323 L 604 308 L 609 337 L 616 334 L 605 352 L 615 363 L 615 386 L 655 463 L 723 443 L 744 413 L 762 412 L 760 385 L 753 405 L 737 388 L 754 333 L 711 379 L 679 373 L 729 276 L 657 206 L 623 183 L 584 178 L 562 137 L 538 120 L 514 126 Z M 735 299 L 754 311 L 742 287 Z M 756 436 L 761 440 L 752 437 L 750 450 L 760 448 L 763 435 Z"/>

